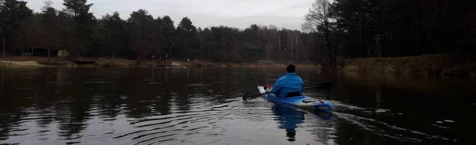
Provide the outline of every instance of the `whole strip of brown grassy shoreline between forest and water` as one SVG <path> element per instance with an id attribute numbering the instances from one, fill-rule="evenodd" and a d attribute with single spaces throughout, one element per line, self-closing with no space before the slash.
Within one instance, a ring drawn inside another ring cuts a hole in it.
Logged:
<path id="1" fill-rule="evenodd" d="M 460 62 L 456 55 L 437 54 L 414 57 L 397 58 L 355 58 L 346 59 L 333 67 L 323 67 L 316 63 L 293 63 L 298 67 L 316 67 L 320 70 L 334 70 L 343 72 L 366 73 L 412 73 L 426 75 L 452 75 L 476 77 L 476 62 Z M 150 61 L 123 58 L 94 58 L 94 64 L 77 64 L 65 61 L 63 58 L 52 57 L 10 57 L 0 58 L 2 68 L 41 68 L 41 67 L 66 67 L 66 68 L 166 68 L 159 63 Z M 11 63 L 10 63 L 11 62 Z M 186 67 L 284 67 L 289 63 L 284 62 L 245 62 L 245 63 L 220 63 L 197 60 L 183 62 L 175 60 L 169 68 Z"/>

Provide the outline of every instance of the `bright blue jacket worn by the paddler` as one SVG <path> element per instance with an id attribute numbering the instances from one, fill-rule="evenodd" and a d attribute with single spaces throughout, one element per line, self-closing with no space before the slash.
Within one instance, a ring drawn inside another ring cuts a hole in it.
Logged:
<path id="1" fill-rule="evenodd" d="M 303 93 L 304 82 L 301 77 L 296 73 L 286 73 L 281 75 L 279 79 L 274 83 L 271 92 L 279 98 L 286 98 L 286 95 L 290 92 Z"/>

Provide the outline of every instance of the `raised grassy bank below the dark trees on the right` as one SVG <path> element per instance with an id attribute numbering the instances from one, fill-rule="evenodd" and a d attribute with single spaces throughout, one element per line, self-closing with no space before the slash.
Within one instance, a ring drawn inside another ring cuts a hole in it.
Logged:
<path id="1" fill-rule="evenodd" d="M 339 67 L 350 72 L 424 73 L 476 76 L 475 62 L 459 62 L 455 55 L 347 59 Z"/>

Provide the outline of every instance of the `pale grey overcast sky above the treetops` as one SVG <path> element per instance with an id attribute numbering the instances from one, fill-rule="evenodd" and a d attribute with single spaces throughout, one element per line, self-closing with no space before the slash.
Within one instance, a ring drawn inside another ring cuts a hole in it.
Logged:
<path id="1" fill-rule="evenodd" d="M 44 0 L 28 1 L 27 6 L 40 12 Z M 62 10 L 63 0 L 51 0 Z M 170 15 L 175 25 L 187 16 L 195 27 L 230 26 L 247 28 L 251 24 L 301 29 L 304 15 L 313 0 L 88 0 L 90 12 L 97 18 L 118 11 L 123 19 L 133 11 L 145 9 L 155 18 Z"/>

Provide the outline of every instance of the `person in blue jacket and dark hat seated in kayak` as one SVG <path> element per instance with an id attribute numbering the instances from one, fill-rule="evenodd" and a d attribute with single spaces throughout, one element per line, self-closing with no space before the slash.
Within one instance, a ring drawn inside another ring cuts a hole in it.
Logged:
<path id="1" fill-rule="evenodd" d="M 296 74 L 296 66 L 290 64 L 286 73 L 274 83 L 271 92 L 278 98 L 301 96 L 304 91 L 304 81 Z"/>

